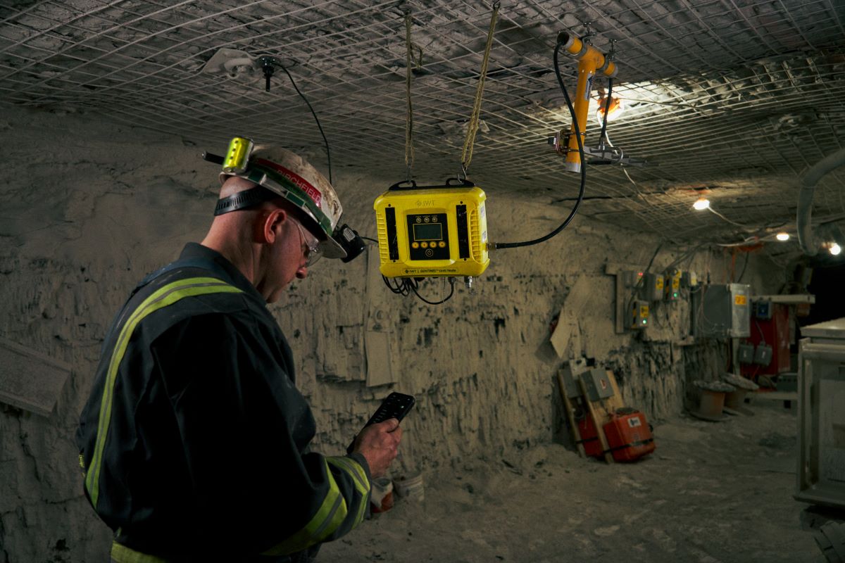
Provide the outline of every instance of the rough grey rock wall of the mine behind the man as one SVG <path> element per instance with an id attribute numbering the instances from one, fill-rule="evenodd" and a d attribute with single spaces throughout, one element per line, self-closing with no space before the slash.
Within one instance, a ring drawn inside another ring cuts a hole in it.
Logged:
<path id="1" fill-rule="evenodd" d="M 0 410 L 0 561 L 101 560 L 110 533 L 82 495 L 79 410 L 128 291 L 204 235 L 216 171 L 199 159 L 204 147 L 95 116 L 4 108 L 0 133 L 15 139 L 4 146 L 0 336 L 74 368 L 49 417 Z M 375 234 L 372 202 L 390 183 L 335 171 L 344 219 L 362 235 Z M 496 241 L 533 238 L 567 212 L 488 198 Z M 568 355 L 612 369 L 631 406 L 651 419 L 679 412 L 688 380 L 723 371 L 724 347 L 684 342 L 684 301 L 658 305 L 646 333 L 615 334 L 613 277 L 605 273 L 608 263 L 645 268 L 658 243 L 579 218 L 553 241 L 494 252 L 477 293 L 460 288 L 443 306 L 390 293 L 372 250 L 349 264 L 319 263 L 271 306 L 317 418 L 315 447 L 341 452 L 391 390 L 417 397 L 397 470 L 460 468 L 462 458 L 498 459 L 565 436 L 554 384 L 563 360 L 548 342 L 555 321 L 570 331 Z M 652 271 L 680 256 L 664 244 Z M 714 282 L 727 275 L 711 252 L 681 267 Z M 777 290 L 772 272 L 751 257 L 743 281 Z M 428 281 L 420 290 L 431 299 L 448 285 Z M 368 371 L 395 383 L 368 387 Z"/>

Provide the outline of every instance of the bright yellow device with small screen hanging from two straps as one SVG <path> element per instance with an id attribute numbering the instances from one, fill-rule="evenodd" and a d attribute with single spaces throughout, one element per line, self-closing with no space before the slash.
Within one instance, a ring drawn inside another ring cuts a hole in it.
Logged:
<path id="1" fill-rule="evenodd" d="M 400 182 L 375 200 L 384 277 L 478 276 L 487 269 L 487 196 L 470 182 L 450 181 Z"/>

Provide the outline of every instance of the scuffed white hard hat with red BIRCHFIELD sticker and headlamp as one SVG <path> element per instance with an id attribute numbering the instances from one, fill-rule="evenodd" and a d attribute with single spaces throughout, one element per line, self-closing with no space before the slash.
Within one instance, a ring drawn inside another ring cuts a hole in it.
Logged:
<path id="1" fill-rule="evenodd" d="M 239 154 L 235 154 L 239 153 Z M 220 181 L 237 176 L 275 192 L 301 209 L 303 226 L 319 238 L 324 257 L 344 258 L 346 251 L 332 235 L 343 207 L 325 176 L 298 154 L 272 145 L 254 145 L 236 137 L 229 145 Z"/>

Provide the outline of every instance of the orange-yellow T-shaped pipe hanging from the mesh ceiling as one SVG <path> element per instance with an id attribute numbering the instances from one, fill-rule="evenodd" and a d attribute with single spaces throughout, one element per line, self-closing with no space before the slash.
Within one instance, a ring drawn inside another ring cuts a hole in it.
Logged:
<path id="1" fill-rule="evenodd" d="M 582 144 L 586 146 L 586 116 L 590 107 L 592 79 L 597 72 L 611 78 L 615 77 L 616 63 L 596 47 L 566 31 L 559 33 L 558 42 L 564 51 L 578 59 L 578 84 L 575 87 L 575 97 L 572 102 L 575 106 L 575 119 L 578 122 L 578 130 L 581 132 Z M 575 123 L 570 127 L 570 142 L 567 148 L 569 150 L 566 153 L 566 171 L 580 172 L 581 153 L 578 150 L 578 140 L 575 138 Z"/>

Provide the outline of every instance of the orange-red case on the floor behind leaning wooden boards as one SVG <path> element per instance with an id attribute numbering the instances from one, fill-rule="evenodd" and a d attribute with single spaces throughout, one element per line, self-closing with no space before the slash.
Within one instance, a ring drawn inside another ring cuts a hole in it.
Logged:
<path id="1" fill-rule="evenodd" d="M 651 427 L 646 422 L 646 415 L 639 410 L 617 411 L 602 428 L 614 461 L 632 462 L 654 452 L 656 445 L 651 436 Z M 586 455 L 602 457 L 602 443 L 598 440 L 596 427 L 589 416 L 578 421 L 578 432 Z"/>

